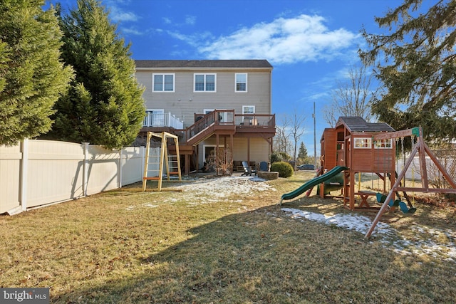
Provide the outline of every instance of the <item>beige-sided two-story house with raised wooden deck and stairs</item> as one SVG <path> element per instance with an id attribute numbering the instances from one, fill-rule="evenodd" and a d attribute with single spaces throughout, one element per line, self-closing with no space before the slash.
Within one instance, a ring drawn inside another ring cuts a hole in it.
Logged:
<path id="1" fill-rule="evenodd" d="M 215 151 L 224 154 L 234 170 L 242 161 L 269 162 L 275 115 L 268 61 L 135 63 L 147 110 L 140 136 L 147 131 L 178 135 L 186 173 L 217 169 L 209 160 Z"/>

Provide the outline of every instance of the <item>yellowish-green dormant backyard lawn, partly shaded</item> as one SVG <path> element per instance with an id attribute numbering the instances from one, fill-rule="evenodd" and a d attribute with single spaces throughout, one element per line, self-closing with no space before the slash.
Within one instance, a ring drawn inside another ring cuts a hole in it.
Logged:
<path id="1" fill-rule="evenodd" d="M 366 240 L 281 209 L 312 174 L 135 184 L 0 216 L 0 285 L 51 287 L 51 303 L 454 303 L 454 207 L 416 201 Z M 375 216 L 316 196 L 283 207 Z"/>

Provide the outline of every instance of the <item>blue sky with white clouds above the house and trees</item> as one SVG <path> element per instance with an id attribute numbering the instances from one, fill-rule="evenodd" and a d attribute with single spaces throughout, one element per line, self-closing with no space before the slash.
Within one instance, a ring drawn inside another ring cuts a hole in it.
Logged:
<path id="1" fill-rule="evenodd" d="M 56 2 L 56 1 L 53 1 Z M 65 13 L 76 0 L 61 0 Z M 273 66 L 276 122 L 306 117 L 301 138 L 314 154 L 331 89 L 346 80 L 365 47 L 360 30 L 378 33 L 375 16 L 398 0 L 103 0 L 134 59 L 267 59 Z"/>

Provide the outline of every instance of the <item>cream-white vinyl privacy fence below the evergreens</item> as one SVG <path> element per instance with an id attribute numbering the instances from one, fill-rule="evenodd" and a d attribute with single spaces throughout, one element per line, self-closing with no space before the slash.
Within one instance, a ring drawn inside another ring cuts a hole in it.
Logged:
<path id="1" fill-rule="evenodd" d="M 0 146 L 0 214 L 120 188 L 142 180 L 144 147 L 24 140 Z"/>

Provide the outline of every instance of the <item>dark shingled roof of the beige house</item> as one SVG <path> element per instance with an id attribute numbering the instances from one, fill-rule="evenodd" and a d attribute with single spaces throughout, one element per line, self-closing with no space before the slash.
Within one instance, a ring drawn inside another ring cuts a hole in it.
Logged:
<path id="1" fill-rule="evenodd" d="M 269 68 L 265 59 L 247 60 L 135 60 L 136 68 Z"/>

